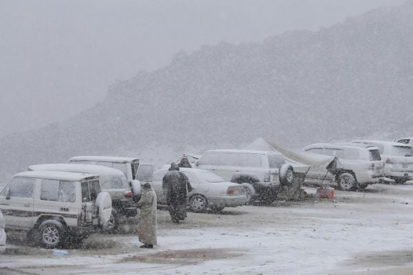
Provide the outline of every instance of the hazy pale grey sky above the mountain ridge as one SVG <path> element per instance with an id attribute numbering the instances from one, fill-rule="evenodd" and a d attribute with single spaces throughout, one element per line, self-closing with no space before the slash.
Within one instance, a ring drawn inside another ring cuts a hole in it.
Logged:
<path id="1" fill-rule="evenodd" d="M 0 136 L 91 107 L 179 50 L 317 30 L 404 0 L 0 0 Z"/>

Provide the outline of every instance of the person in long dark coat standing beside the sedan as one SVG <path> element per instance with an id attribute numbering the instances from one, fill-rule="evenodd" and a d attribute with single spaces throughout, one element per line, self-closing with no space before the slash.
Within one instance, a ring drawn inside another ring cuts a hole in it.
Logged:
<path id="1" fill-rule="evenodd" d="M 162 189 L 167 196 L 172 221 L 174 223 L 183 221 L 187 217 L 187 192 L 191 192 L 192 188 L 188 177 L 180 172 L 175 162 L 171 164 L 171 168 L 162 179 Z"/>

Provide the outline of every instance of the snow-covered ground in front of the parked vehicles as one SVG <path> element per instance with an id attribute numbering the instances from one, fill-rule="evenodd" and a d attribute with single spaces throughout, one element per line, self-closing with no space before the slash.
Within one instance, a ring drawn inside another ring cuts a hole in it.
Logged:
<path id="1" fill-rule="evenodd" d="M 315 188 L 306 187 L 315 193 Z M 413 185 L 375 184 L 335 199 L 189 213 L 158 210 L 158 247 L 95 234 L 68 256 L 10 234 L 0 274 L 413 274 Z"/>

